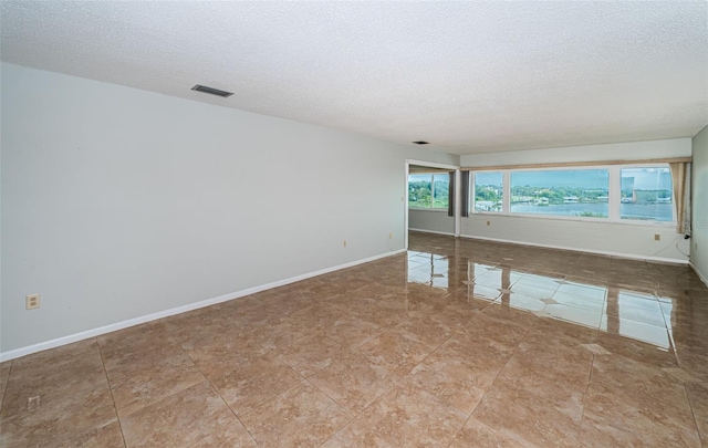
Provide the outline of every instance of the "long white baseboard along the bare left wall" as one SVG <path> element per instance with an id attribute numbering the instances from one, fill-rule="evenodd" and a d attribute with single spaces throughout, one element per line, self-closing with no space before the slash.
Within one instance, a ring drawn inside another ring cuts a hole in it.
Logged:
<path id="1" fill-rule="evenodd" d="M 396 251 L 382 253 L 382 254 L 369 257 L 369 258 L 365 258 L 365 259 L 362 259 L 362 260 L 356 260 L 356 261 L 352 261 L 352 262 L 348 262 L 348 263 L 339 264 L 339 265 L 335 265 L 335 267 L 332 267 L 332 268 L 321 269 L 321 270 L 315 271 L 315 272 L 309 272 L 309 273 L 305 273 L 305 274 L 291 277 L 289 279 L 279 280 L 279 281 L 275 281 L 275 282 L 267 283 L 267 284 L 261 284 L 261 285 L 258 285 L 258 286 L 249 288 L 249 289 L 241 290 L 241 291 L 238 291 L 238 292 L 233 292 L 233 293 L 230 293 L 230 294 L 223 294 L 223 295 L 219 295 L 217 298 L 207 299 L 207 300 L 202 300 L 202 301 L 195 302 L 195 303 L 189 303 L 189 304 L 186 304 L 186 305 L 183 305 L 183 306 L 177 306 L 177 308 L 173 308 L 173 309 L 169 309 L 169 310 L 158 311 L 156 313 L 142 315 L 139 317 L 128 319 L 127 321 L 116 322 L 116 323 L 111 324 L 111 325 L 100 326 L 97 329 L 87 330 L 87 331 L 84 331 L 84 332 L 81 332 L 81 333 L 70 334 L 70 335 L 58 337 L 58 338 L 54 338 L 54 340 L 41 342 L 39 344 L 29 345 L 27 347 L 21 347 L 21 348 L 11 350 L 11 351 L 8 351 L 8 352 L 2 352 L 2 353 L 0 353 L 0 362 L 14 360 L 14 358 L 18 358 L 18 357 L 21 357 L 21 356 L 31 355 L 32 353 L 42 352 L 44 350 L 50 350 L 50 348 L 55 348 L 55 347 L 59 347 L 59 346 L 62 346 L 62 345 L 66 345 L 66 344 L 71 344 L 71 343 L 74 343 L 74 342 L 87 340 L 90 337 L 96 337 L 96 336 L 100 336 L 102 334 L 106 334 L 106 333 L 115 332 L 115 331 L 118 331 L 118 330 L 127 329 L 128 326 L 134 326 L 134 325 L 139 325 L 139 324 L 143 324 L 143 323 L 156 321 L 158 319 L 168 317 L 170 315 L 185 313 L 187 311 L 192 311 L 192 310 L 197 310 L 197 309 L 200 309 L 200 308 L 214 305 L 214 304 L 217 304 L 217 303 L 227 302 L 229 300 L 239 299 L 239 298 L 242 298 L 242 296 L 246 296 L 246 295 L 254 294 L 257 292 L 270 290 L 272 288 L 283 286 L 285 284 L 299 282 L 301 280 L 306 280 L 306 279 L 310 279 L 310 278 L 313 278 L 313 277 L 317 277 L 317 275 L 322 275 L 322 274 L 325 274 L 325 273 L 329 273 L 329 272 L 339 271 L 341 269 L 351 268 L 351 267 L 354 267 L 354 265 L 357 265 L 357 264 L 362 264 L 362 263 L 367 263 L 369 261 L 379 260 L 382 258 L 397 256 L 398 253 L 404 253 L 404 252 L 406 252 L 406 249 L 399 249 L 399 250 L 396 250 Z"/>

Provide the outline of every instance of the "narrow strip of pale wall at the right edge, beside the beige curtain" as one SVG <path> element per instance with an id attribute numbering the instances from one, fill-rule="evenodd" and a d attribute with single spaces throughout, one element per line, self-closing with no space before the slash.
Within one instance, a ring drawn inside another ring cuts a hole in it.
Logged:
<path id="1" fill-rule="evenodd" d="M 694 138 L 690 262 L 708 282 L 708 126 Z"/>

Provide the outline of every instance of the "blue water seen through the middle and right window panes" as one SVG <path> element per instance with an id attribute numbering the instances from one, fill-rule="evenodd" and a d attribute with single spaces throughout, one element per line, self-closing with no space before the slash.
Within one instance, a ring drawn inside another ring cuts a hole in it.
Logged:
<path id="1" fill-rule="evenodd" d="M 511 211 L 516 213 L 562 215 L 576 216 L 583 211 L 607 215 L 607 202 L 602 204 L 560 204 L 556 206 L 532 206 L 529 204 L 512 204 Z M 620 213 L 623 218 L 653 219 L 671 221 L 674 205 L 671 204 L 621 204 Z"/>

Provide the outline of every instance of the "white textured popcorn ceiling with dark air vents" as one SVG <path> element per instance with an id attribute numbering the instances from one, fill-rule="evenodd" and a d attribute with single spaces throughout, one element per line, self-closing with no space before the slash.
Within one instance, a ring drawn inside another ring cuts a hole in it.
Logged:
<path id="1" fill-rule="evenodd" d="M 2 1 L 0 24 L 7 62 L 455 154 L 708 123 L 705 1 Z"/>

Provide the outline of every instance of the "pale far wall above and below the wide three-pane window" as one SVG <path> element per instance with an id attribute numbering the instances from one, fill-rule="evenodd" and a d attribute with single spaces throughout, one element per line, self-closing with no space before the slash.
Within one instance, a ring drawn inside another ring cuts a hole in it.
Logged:
<path id="1" fill-rule="evenodd" d="M 531 149 L 460 157 L 462 167 L 506 166 L 561 162 L 638 160 L 689 157 L 690 138 L 617 143 L 566 148 Z M 487 226 L 490 221 L 490 226 Z M 608 253 L 631 258 L 687 262 L 689 244 L 674 227 L 593 222 L 573 219 L 470 213 L 461 235 L 527 244 Z M 660 240 L 654 239 L 659 235 Z"/>

